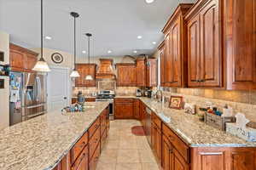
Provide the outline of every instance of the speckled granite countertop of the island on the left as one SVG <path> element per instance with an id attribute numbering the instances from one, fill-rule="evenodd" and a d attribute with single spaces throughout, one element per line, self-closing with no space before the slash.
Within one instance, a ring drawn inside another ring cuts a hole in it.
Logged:
<path id="1" fill-rule="evenodd" d="M 0 131 L 1 170 L 48 170 L 55 167 L 87 131 L 108 102 L 81 113 L 52 111 Z"/>

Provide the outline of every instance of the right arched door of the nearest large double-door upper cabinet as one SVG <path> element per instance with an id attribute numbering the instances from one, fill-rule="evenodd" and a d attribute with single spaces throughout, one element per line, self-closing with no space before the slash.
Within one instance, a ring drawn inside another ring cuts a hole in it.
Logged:
<path id="1" fill-rule="evenodd" d="M 201 86 L 220 87 L 222 72 L 221 27 L 218 1 L 212 0 L 200 13 Z"/>

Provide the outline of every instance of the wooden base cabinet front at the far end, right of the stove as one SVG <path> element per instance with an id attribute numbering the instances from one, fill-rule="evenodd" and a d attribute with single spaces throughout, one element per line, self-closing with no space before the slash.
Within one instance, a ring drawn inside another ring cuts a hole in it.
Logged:
<path id="1" fill-rule="evenodd" d="M 116 119 L 133 118 L 133 103 L 117 102 L 114 104 L 114 117 Z"/>

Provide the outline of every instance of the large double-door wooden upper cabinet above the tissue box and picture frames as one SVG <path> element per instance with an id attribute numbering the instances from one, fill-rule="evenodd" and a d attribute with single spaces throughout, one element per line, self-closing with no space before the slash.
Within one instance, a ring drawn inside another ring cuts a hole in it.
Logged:
<path id="1" fill-rule="evenodd" d="M 221 12 L 218 0 L 201 0 L 186 15 L 189 87 L 223 86 Z"/>

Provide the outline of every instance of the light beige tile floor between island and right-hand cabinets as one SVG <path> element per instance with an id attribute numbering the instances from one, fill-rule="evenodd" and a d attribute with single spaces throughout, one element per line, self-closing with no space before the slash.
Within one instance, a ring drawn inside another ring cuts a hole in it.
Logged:
<path id="1" fill-rule="evenodd" d="M 96 170 L 160 170 L 146 137 L 135 136 L 131 127 L 136 120 L 110 122 L 107 142 Z"/>

